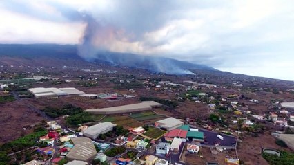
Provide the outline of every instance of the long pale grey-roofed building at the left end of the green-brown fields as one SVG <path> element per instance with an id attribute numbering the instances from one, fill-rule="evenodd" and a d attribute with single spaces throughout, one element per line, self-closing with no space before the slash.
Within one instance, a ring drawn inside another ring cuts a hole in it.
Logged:
<path id="1" fill-rule="evenodd" d="M 113 127 L 115 126 L 117 126 L 117 124 L 112 124 L 111 122 L 101 122 L 99 124 L 88 127 L 88 129 L 85 129 L 83 131 L 83 135 L 90 137 L 91 139 L 96 139 L 99 134 L 112 131 Z"/>

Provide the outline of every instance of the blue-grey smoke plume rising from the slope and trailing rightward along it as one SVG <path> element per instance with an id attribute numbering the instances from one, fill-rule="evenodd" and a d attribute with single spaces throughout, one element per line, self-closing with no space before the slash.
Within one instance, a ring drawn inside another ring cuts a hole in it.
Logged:
<path id="1" fill-rule="evenodd" d="M 166 74 L 193 74 L 170 58 L 118 53 L 117 49 L 128 42 L 124 30 L 119 30 L 111 25 L 103 25 L 90 15 L 84 15 L 84 21 L 86 28 L 78 47 L 78 53 L 88 61 L 106 61 L 112 65 L 148 69 Z"/>

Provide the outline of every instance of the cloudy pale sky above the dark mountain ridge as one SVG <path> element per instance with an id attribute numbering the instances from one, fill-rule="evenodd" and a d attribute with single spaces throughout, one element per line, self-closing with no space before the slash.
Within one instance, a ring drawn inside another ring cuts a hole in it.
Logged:
<path id="1" fill-rule="evenodd" d="M 184 2 L 184 3 L 183 3 Z M 294 80 L 294 1 L 3 0 L 0 43 L 80 44 Z"/>

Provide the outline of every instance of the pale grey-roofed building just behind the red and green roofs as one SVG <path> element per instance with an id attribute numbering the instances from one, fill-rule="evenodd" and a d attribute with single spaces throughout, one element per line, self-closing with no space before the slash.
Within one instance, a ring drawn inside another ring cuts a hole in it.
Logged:
<path id="1" fill-rule="evenodd" d="M 168 131 L 171 131 L 173 129 L 177 129 L 180 126 L 182 126 L 184 123 L 181 120 L 175 119 L 175 118 L 167 118 L 164 120 L 159 120 L 155 122 L 155 126 L 159 126 L 162 129 L 166 129 Z"/>

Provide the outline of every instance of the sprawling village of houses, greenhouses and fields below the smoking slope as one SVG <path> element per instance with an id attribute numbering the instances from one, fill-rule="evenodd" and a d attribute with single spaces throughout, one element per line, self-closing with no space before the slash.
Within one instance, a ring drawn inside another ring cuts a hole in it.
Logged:
<path id="1" fill-rule="evenodd" d="M 239 165 L 253 161 L 242 149 L 248 138 L 277 145 L 248 149 L 264 158 L 282 157 L 277 147 L 294 148 L 291 89 L 277 91 L 282 99 L 273 97 L 276 89 L 238 81 L 121 76 L 92 67 L 77 75 L 85 72 L 1 80 L 3 108 L 17 102 L 38 120 L 20 128 L 30 133 L 1 145 L 7 164 Z"/>

